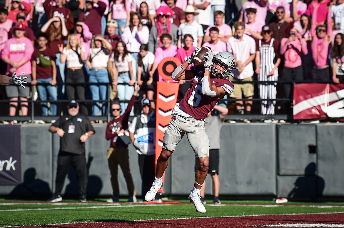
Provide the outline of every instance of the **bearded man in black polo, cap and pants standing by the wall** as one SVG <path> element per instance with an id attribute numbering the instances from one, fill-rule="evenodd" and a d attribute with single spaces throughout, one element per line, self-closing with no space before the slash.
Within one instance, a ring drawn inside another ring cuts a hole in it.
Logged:
<path id="1" fill-rule="evenodd" d="M 71 100 L 67 106 L 68 114 L 53 123 L 49 131 L 61 137 L 60 152 L 57 156 L 55 193 L 48 200 L 50 203 L 62 201 L 61 191 L 69 169 L 73 166 L 79 179 L 79 201 L 86 202 L 87 168 L 85 142 L 95 130 L 89 119 L 79 113 L 79 104 Z"/>

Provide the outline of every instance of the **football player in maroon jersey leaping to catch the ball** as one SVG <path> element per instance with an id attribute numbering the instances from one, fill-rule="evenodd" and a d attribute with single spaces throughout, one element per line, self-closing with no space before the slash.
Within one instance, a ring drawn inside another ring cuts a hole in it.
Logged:
<path id="1" fill-rule="evenodd" d="M 227 51 L 219 52 L 215 56 L 212 51 L 208 51 L 204 56 L 206 59 L 204 66 L 192 67 L 191 70 L 185 71 L 193 62 L 198 49 L 196 48 L 192 55 L 172 73 L 173 80 L 192 79 L 192 83 L 183 99 L 174 106 L 171 122 L 164 134 L 163 148 L 157 161 L 155 180 L 144 199 L 153 200 L 155 194 L 163 186 L 162 175 L 168 166 L 168 159 L 186 133 L 199 163 L 189 200 L 194 203 L 196 211 L 203 214 L 205 207 L 200 199 L 200 191 L 208 173 L 209 163 L 209 140 L 204 130 L 204 119 L 217 101 L 233 92 L 233 83 L 227 77 L 235 67 L 235 60 Z"/>

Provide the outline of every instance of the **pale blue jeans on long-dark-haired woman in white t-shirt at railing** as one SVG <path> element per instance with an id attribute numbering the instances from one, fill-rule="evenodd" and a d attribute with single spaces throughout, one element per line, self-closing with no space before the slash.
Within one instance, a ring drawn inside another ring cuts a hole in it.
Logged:
<path id="1" fill-rule="evenodd" d="M 123 72 L 118 74 L 117 82 L 118 83 L 128 83 L 130 81 L 129 72 Z M 134 86 L 126 85 L 117 85 L 117 96 L 119 100 L 130 100 L 132 94 L 134 93 Z M 121 103 L 122 112 L 121 115 L 126 111 L 128 103 Z M 132 110 L 133 112 L 133 110 Z"/>

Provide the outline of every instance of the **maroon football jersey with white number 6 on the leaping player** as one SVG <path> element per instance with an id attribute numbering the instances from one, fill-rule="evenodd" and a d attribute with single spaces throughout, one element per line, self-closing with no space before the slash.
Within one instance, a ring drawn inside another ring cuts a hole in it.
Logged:
<path id="1" fill-rule="evenodd" d="M 214 108 L 217 101 L 223 97 L 211 97 L 202 93 L 204 69 L 198 70 L 197 72 L 193 71 L 193 74 L 195 77 L 192 79 L 190 88 L 186 91 L 183 99 L 179 103 L 179 106 L 195 119 L 205 119 L 208 113 Z M 212 85 L 222 87 L 228 96 L 233 92 L 233 83 L 228 79 L 211 78 L 210 80 Z"/>

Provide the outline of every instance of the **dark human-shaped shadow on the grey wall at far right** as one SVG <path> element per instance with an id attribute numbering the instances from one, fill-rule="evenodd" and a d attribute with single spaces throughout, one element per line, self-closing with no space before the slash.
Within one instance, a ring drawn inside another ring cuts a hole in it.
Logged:
<path id="1" fill-rule="evenodd" d="M 295 187 L 289 192 L 288 197 L 294 199 L 316 199 L 323 195 L 325 181 L 317 175 L 316 164 L 308 164 L 305 168 L 305 176 L 296 179 Z"/>

